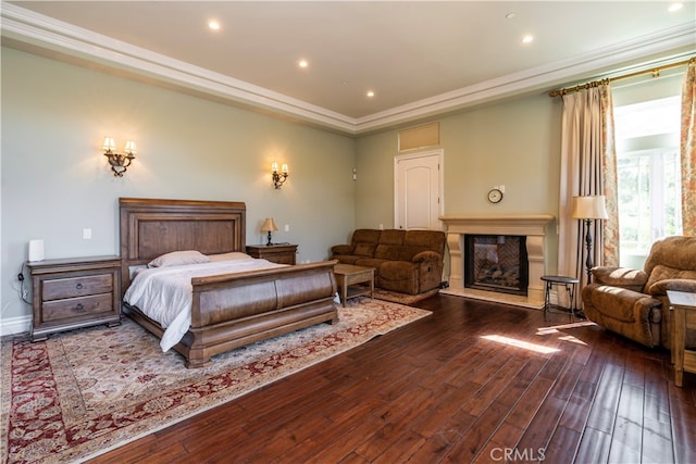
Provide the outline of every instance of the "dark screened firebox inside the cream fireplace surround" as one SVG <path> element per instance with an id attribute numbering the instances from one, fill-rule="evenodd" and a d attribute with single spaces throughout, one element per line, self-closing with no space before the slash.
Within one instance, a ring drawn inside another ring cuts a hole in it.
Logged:
<path id="1" fill-rule="evenodd" d="M 526 296 L 526 237 L 464 235 L 464 287 Z"/>

